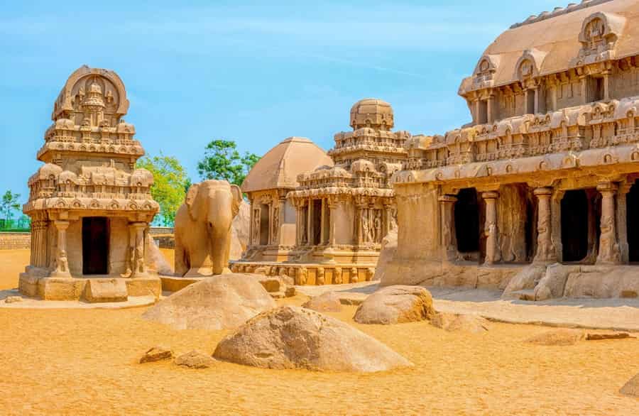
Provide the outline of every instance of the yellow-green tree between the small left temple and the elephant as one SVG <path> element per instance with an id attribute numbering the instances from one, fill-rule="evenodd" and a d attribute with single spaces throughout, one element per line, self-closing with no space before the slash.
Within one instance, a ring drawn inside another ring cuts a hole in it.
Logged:
<path id="1" fill-rule="evenodd" d="M 186 170 L 177 158 L 162 153 L 138 160 L 137 166 L 153 173 L 151 195 L 160 204 L 160 223 L 173 226 L 175 213 L 184 202 L 187 184 L 190 184 Z"/>

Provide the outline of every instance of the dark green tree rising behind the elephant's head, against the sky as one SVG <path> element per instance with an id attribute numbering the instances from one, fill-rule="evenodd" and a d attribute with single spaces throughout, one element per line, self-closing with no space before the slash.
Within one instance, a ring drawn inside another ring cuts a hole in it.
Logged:
<path id="1" fill-rule="evenodd" d="M 197 163 L 197 173 L 200 173 L 202 180 L 228 180 L 235 185 L 242 185 L 258 160 L 259 156 L 253 153 L 240 155 L 234 141 L 217 139 L 204 149 L 204 158 Z"/>

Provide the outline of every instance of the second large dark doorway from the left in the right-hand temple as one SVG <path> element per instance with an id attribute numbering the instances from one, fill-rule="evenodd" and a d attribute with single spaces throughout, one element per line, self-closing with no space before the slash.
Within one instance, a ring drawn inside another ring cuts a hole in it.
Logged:
<path id="1" fill-rule="evenodd" d="M 588 255 L 588 196 L 569 190 L 562 199 L 562 261 L 581 261 Z"/>

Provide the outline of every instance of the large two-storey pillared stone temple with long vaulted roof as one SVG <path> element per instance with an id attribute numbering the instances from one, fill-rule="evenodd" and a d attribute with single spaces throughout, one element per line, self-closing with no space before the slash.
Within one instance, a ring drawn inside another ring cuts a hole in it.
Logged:
<path id="1" fill-rule="evenodd" d="M 637 23 L 638 1 L 582 1 L 488 46 L 459 87 L 472 122 L 407 142 L 384 284 L 637 296 Z"/>

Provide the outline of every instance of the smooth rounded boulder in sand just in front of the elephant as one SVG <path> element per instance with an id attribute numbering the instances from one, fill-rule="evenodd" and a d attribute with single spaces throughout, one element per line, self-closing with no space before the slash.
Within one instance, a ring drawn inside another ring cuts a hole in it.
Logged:
<path id="1" fill-rule="evenodd" d="M 275 301 L 252 275 L 228 273 L 175 292 L 142 317 L 175 329 L 229 329 L 273 307 Z"/>

